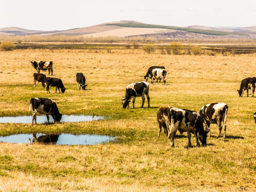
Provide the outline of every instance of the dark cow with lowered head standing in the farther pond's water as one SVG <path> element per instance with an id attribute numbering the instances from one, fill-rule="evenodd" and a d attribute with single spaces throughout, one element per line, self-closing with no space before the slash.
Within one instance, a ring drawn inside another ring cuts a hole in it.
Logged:
<path id="1" fill-rule="evenodd" d="M 47 123 L 49 123 L 49 115 L 52 116 L 54 123 L 60 122 L 62 115 L 59 112 L 59 109 L 54 100 L 50 100 L 48 98 L 31 98 L 29 111 L 33 110 L 33 118 L 32 124 L 34 124 L 34 120 L 36 123 L 36 114 L 45 114 L 47 118 Z"/>

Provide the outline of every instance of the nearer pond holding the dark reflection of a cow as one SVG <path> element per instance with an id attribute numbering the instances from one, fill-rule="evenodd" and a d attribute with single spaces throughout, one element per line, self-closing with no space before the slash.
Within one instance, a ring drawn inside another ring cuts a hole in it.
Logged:
<path id="1" fill-rule="evenodd" d="M 34 138 L 34 139 L 33 139 Z M 36 139 L 35 139 L 36 138 Z M 0 137 L 0 142 L 31 143 L 38 142 L 53 145 L 97 145 L 113 141 L 116 137 L 107 135 L 74 135 L 74 134 L 15 134 Z"/>

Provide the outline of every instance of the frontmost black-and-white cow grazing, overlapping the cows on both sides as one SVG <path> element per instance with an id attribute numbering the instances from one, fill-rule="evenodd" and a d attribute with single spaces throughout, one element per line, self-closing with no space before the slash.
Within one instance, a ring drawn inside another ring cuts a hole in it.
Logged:
<path id="1" fill-rule="evenodd" d="M 174 137 L 177 131 L 187 132 L 188 146 L 191 147 L 191 133 L 196 137 L 197 146 L 200 146 L 198 139 L 203 146 L 206 146 L 207 131 L 204 130 L 203 122 L 196 111 L 188 109 L 161 108 L 162 118 L 167 127 L 167 138 L 171 139 L 171 146 L 174 147 Z M 162 124 L 162 123 L 161 123 Z"/>

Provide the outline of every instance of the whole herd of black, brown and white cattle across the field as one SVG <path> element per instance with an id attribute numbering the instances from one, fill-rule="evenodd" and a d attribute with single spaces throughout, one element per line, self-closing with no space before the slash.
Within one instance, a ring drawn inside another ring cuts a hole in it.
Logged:
<path id="1" fill-rule="evenodd" d="M 52 61 L 49 62 L 36 62 L 31 61 L 32 66 L 38 71 L 38 73 L 34 74 L 34 86 L 36 86 L 36 81 L 42 82 L 43 87 L 46 85 L 47 93 L 49 91 L 49 86 L 55 86 L 55 93 L 57 93 L 57 89 L 61 89 L 61 92 L 65 92 L 65 87 L 61 79 L 59 78 L 51 78 L 46 77 L 44 74 L 40 74 L 41 70 L 49 70 L 52 71 Z M 166 82 L 166 70 L 163 66 L 152 66 L 148 69 L 147 74 L 144 76 L 145 81 L 132 83 L 126 87 L 125 90 L 125 98 L 122 99 L 123 108 L 129 107 L 129 103 L 131 98 L 132 101 L 132 108 L 134 108 L 134 102 L 136 97 L 142 98 L 142 105 L 143 107 L 145 102 L 145 95 L 148 101 L 148 108 L 150 107 L 150 97 L 149 97 L 149 83 L 148 78 L 150 78 L 151 84 L 154 83 L 154 79 L 158 83 L 163 80 L 164 84 Z M 85 77 L 82 73 L 76 74 L 77 80 L 77 89 L 79 90 L 82 86 L 82 89 L 85 90 Z M 249 77 L 243 79 L 241 82 L 239 96 L 243 96 L 243 92 L 247 90 L 247 97 L 249 89 L 252 90 L 252 97 L 254 95 L 255 90 L 255 77 Z M 60 90 L 59 90 L 60 93 Z M 61 119 L 61 114 L 59 113 L 58 107 L 55 101 L 47 99 L 47 98 L 32 98 L 30 100 L 30 109 L 33 109 L 33 120 L 32 123 L 36 123 L 36 114 L 45 114 L 47 117 L 47 122 L 49 123 L 49 115 L 51 115 L 55 122 L 59 122 Z M 162 127 L 164 128 L 164 133 L 168 139 L 171 140 L 171 146 L 174 147 L 174 137 L 177 131 L 181 134 L 183 132 L 187 132 L 188 136 L 188 146 L 191 146 L 191 133 L 195 135 L 197 146 L 200 146 L 199 141 L 201 141 L 202 145 L 207 145 L 206 138 L 207 133 L 209 132 L 209 136 L 211 137 L 210 132 L 210 124 L 217 124 L 219 127 L 219 134 L 217 138 L 220 137 L 221 130 L 223 128 L 224 134 L 223 138 L 226 137 L 226 122 L 227 122 L 227 113 L 228 113 L 228 106 L 226 103 L 211 103 L 203 106 L 199 113 L 197 111 L 191 111 L 187 109 L 179 109 L 175 107 L 161 107 L 157 111 L 157 122 L 159 125 L 158 129 L 158 137 L 162 131 Z M 253 114 L 255 123 L 256 123 L 256 113 Z"/>

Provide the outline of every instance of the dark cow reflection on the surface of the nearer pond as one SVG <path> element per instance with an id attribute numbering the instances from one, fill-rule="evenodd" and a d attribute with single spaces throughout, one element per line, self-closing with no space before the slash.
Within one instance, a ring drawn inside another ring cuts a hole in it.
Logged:
<path id="1" fill-rule="evenodd" d="M 60 134 L 45 134 L 41 135 L 38 138 L 36 137 L 36 133 L 33 133 L 33 143 L 42 143 L 42 144 L 52 144 L 56 145 Z M 31 144 L 31 139 L 29 138 L 29 144 Z"/>

